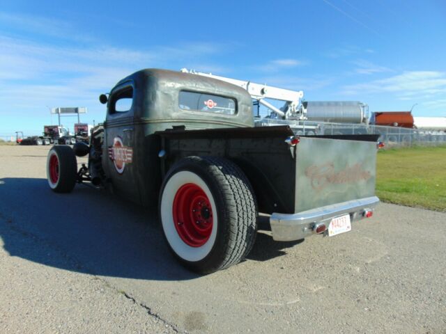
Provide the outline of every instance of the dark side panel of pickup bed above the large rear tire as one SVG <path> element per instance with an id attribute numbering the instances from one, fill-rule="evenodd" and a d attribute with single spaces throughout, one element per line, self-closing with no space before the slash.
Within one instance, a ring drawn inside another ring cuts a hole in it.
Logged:
<path id="1" fill-rule="evenodd" d="M 295 161 L 289 145 L 289 127 L 232 128 L 157 132 L 167 151 L 164 170 L 189 156 L 226 157 L 251 182 L 259 211 L 293 213 Z"/>

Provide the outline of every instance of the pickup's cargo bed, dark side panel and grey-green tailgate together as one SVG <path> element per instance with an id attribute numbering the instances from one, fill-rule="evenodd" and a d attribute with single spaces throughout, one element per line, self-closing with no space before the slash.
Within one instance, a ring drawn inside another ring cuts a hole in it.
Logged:
<path id="1" fill-rule="evenodd" d="M 288 126 L 157 132 L 162 170 L 190 156 L 226 157 L 247 175 L 259 212 L 295 214 L 374 196 L 376 135 L 294 136 Z"/>

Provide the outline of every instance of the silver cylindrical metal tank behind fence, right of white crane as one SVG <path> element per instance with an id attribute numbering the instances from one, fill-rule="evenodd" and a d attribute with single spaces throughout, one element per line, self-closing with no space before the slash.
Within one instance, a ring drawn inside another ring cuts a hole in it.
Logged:
<path id="1" fill-rule="evenodd" d="M 308 120 L 332 123 L 367 123 L 369 106 L 358 101 L 305 101 Z"/>

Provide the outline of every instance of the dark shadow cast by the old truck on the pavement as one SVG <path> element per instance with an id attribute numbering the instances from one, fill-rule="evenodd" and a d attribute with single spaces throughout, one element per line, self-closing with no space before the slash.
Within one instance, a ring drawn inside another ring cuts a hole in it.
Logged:
<path id="1" fill-rule="evenodd" d="M 0 237 L 12 256 L 100 276 L 199 277 L 183 269 L 171 255 L 155 210 L 84 185 L 77 185 L 72 193 L 54 193 L 47 180 L 35 178 L 1 179 L 0 198 Z M 44 243 L 57 251 L 43 256 L 25 246 L 29 237 L 36 239 L 36 248 Z M 259 233 L 248 259 L 264 261 L 284 255 L 283 248 L 300 242 L 277 243 Z"/>

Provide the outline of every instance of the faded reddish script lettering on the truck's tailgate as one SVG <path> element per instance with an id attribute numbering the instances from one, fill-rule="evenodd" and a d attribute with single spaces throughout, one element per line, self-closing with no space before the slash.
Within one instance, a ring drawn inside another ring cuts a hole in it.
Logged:
<path id="1" fill-rule="evenodd" d="M 346 166 L 344 170 L 334 171 L 334 164 L 329 162 L 320 166 L 309 166 L 305 175 L 310 178 L 312 188 L 321 191 L 329 184 L 347 184 L 358 181 L 367 181 L 371 178 L 368 170 L 362 168 L 362 164 Z"/>

